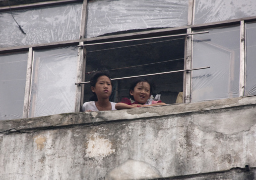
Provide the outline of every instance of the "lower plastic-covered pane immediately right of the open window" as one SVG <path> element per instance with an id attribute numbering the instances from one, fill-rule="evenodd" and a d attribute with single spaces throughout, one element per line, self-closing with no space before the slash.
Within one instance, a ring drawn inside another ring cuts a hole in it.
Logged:
<path id="1" fill-rule="evenodd" d="M 191 102 L 239 96 L 239 27 L 209 30 L 194 35 Z"/>

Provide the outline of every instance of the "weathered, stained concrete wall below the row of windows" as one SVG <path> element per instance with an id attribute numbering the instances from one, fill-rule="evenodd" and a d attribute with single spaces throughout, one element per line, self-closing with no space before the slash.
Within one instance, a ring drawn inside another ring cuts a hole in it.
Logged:
<path id="1" fill-rule="evenodd" d="M 0 179 L 254 179 L 255 123 L 256 96 L 0 121 Z"/>

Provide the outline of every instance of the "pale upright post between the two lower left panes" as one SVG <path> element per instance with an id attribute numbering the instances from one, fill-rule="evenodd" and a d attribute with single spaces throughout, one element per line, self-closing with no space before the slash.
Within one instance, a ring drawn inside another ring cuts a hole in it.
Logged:
<path id="1" fill-rule="evenodd" d="M 28 62 L 27 62 L 26 85 L 25 85 L 25 97 L 24 97 L 24 106 L 23 106 L 23 118 L 28 117 L 28 111 L 29 111 L 29 97 L 30 97 L 32 61 L 33 61 L 33 48 L 29 48 Z"/>

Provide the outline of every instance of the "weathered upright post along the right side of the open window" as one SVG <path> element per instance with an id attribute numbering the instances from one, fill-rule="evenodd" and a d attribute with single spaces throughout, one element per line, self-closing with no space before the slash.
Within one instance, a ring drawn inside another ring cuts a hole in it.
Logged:
<path id="1" fill-rule="evenodd" d="M 191 28 L 187 29 L 187 33 L 191 33 Z M 192 35 L 186 37 L 186 57 L 185 57 L 185 69 L 191 69 L 191 47 L 192 47 Z M 191 89 L 191 71 L 184 73 L 185 87 L 183 88 L 183 100 L 185 103 L 190 102 L 190 89 Z"/>

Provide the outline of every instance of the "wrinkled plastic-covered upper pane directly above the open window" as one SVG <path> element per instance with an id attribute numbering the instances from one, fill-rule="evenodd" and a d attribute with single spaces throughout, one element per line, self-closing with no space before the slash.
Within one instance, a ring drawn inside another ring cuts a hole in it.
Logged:
<path id="1" fill-rule="evenodd" d="M 187 25 L 188 0 L 119 0 L 88 3 L 87 38 L 118 31 Z"/>

